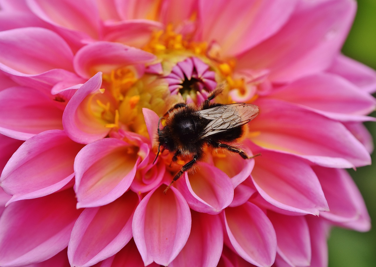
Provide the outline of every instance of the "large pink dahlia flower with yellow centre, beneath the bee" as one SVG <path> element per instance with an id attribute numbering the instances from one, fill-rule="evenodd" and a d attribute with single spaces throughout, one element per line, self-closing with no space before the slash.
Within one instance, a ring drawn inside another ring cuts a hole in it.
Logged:
<path id="1" fill-rule="evenodd" d="M 1 0 L 0 266 L 326 266 L 367 231 L 376 73 L 342 55 L 353 0 Z M 164 194 L 176 103 L 252 103 L 236 145 Z M 162 122 L 163 127 L 163 122 Z"/>

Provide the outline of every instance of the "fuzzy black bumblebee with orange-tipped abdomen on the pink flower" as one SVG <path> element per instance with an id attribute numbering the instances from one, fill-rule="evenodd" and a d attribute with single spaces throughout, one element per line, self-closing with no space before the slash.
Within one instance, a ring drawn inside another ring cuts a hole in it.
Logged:
<path id="1" fill-rule="evenodd" d="M 184 172 L 191 170 L 203 158 L 206 146 L 238 153 L 244 159 L 252 158 L 229 143 L 242 136 L 243 126 L 258 115 L 259 109 L 247 103 L 211 103 L 210 101 L 220 93 L 221 89 L 214 90 L 200 107 L 185 103 L 176 104 L 159 118 L 156 138 L 159 145 L 153 164 L 158 158 L 161 146 L 173 153 L 173 162 L 177 161 L 179 156 L 192 157 L 176 173 L 164 193 Z M 165 126 L 160 129 L 162 119 L 165 119 Z"/>

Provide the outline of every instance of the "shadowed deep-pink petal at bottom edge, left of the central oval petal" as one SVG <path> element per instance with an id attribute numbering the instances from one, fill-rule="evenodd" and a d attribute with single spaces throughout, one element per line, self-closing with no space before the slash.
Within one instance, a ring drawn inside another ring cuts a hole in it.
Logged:
<path id="1" fill-rule="evenodd" d="M 130 240 L 126 246 L 114 256 L 102 261 L 102 264 L 94 265 L 95 267 L 144 267 L 141 255 L 138 252 L 135 242 Z M 153 262 L 147 267 L 160 267 L 161 265 Z"/>

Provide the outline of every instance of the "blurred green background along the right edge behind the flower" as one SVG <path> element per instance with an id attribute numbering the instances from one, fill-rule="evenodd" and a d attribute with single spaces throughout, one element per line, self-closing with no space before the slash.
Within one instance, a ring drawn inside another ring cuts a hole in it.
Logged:
<path id="1" fill-rule="evenodd" d="M 376 69 L 376 0 L 358 0 L 358 12 L 343 53 Z M 376 117 L 376 113 L 373 113 Z M 366 123 L 376 140 L 376 123 Z M 376 267 L 376 153 L 373 165 L 350 171 L 372 220 L 370 232 L 334 228 L 329 238 L 329 267 Z"/>

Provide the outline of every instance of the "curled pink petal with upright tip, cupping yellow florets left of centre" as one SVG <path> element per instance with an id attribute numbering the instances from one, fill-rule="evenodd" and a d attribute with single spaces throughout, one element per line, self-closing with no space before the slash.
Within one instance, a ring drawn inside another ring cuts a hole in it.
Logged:
<path id="1" fill-rule="evenodd" d="M 102 85 L 102 72 L 98 72 L 83 84 L 68 102 L 63 114 L 63 126 L 68 136 L 77 143 L 90 143 L 105 137 L 109 128 L 88 110 L 85 98 L 99 92 Z M 87 102 L 87 101 L 86 101 Z"/>

